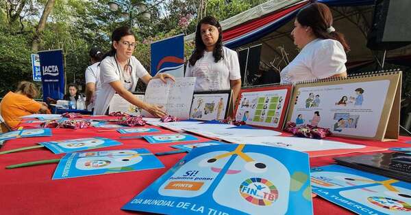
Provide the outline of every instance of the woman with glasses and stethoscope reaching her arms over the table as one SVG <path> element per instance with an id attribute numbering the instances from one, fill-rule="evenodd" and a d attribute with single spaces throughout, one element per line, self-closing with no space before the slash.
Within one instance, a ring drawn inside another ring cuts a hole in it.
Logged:
<path id="1" fill-rule="evenodd" d="M 146 84 L 152 78 L 160 78 L 165 83 L 165 78 L 171 78 L 174 81 L 173 76 L 158 73 L 152 77 L 140 61 L 132 56 L 134 48 L 136 48 L 136 38 L 129 27 L 115 29 L 111 39 L 112 48 L 100 64 L 101 89 L 99 94 L 97 94 L 94 114 L 105 115 L 110 101 L 114 94 L 117 93 L 127 102 L 146 110 L 155 117 L 166 115 L 161 106 L 147 104 L 136 98 L 130 91 L 136 88 L 138 78 L 141 78 Z"/>

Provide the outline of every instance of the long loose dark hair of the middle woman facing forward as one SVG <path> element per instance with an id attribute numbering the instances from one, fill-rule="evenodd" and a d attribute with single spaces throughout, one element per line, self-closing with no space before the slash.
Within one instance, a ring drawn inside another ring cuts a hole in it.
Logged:
<path id="1" fill-rule="evenodd" d="M 201 39 L 201 25 L 208 24 L 219 29 L 219 40 L 216 42 L 214 51 L 212 51 L 212 56 L 214 57 L 214 62 L 218 62 L 224 58 L 223 56 L 223 30 L 219 21 L 213 16 L 206 16 L 200 20 L 195 31 L 195 49 L 188 61 L 190 61 L 190 66 L 194 66 L 195 62 L 204 56 L 204 51 L 206 50 L 206 44 L 204 44 L 203 39 Z"/>

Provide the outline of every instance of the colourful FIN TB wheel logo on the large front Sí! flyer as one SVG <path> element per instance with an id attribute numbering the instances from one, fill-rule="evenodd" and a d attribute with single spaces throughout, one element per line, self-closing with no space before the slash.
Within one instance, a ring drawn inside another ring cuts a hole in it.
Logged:
<path id="1" fill-rule="evenodd" d="M 269 180 L 253 177 L 240 185 L 240 195 L 254 205 L 271 205 L 278 199 L 278 190 Z"/>

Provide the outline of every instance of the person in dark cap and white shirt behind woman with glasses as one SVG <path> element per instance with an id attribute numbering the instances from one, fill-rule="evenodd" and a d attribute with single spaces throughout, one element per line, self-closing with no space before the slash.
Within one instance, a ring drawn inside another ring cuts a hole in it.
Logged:
<path id="1" fill-rule="evenodd" d="M 103 59 L 101 48 L 94 46 L 90 49 L 90 63 L 86 69 L 86 108 L 88 111 L 94 109 L 97 94 L 101 88 L 100 83 L 100 61 Z"/>

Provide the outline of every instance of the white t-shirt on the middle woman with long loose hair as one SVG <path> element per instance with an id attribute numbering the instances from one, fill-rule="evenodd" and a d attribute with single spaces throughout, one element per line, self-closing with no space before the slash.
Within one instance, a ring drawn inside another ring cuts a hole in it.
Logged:
<path id="1" fill-rule="evenodd" d="M 186 66 L 186 77 L 197 77 L 195 91 L 230 89 L 230 80 L 241 78 L 240 63 L 236 51 L 223 46 L 224 59 L 214 62 L 212 52 L 204 51 L 204 56 L 190 66 Z"/>

